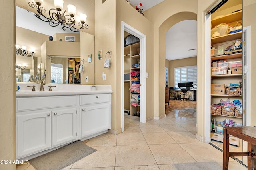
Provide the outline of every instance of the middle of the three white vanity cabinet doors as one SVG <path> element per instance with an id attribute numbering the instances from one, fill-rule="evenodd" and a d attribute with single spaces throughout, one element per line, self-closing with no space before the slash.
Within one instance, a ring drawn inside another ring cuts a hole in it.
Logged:
<path id="1" fill-rule="evenodd" d="M 76 108 L 52 110 L 52 147 L 77 139 Z"/>

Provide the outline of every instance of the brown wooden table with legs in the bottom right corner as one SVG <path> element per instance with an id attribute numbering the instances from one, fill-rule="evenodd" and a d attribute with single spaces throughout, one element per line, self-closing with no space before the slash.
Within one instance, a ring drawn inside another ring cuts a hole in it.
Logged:
<path id="1" fill-rule="evenodd" d="M 247 152 L 229 152 L 229 135 L 248 142 Z M 223 170 L 228 170 L 228 159 L 232 156 L 247 156 L 248 170 L 256 168 L 256 127 L 224 127 L 223 128 Z"/>

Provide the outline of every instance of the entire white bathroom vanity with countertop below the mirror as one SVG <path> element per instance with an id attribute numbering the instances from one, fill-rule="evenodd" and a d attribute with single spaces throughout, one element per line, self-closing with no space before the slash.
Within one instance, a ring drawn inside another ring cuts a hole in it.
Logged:
<path id="1" fill-rule="evenodd" d="M 16 92 L 17 160 L 40 156 L 111 128 L 110 85 L 91 90 L 90 85 L 54 84 L 53 91 L 19 86 L 24 90 Z"/>

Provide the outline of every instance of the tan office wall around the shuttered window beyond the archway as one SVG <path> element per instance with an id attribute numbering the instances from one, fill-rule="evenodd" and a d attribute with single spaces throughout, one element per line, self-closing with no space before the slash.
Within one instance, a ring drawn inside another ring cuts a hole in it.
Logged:
<path id="1" fill-rule="evenodd" d="M 174 87 L 174 80 L 175 80 L 175 67 L 185 67 L 185 66 L 196 66 L 196 57 L 189 57 L 186 59 L 178 59 L 178 60 L 171 60 L 169 61 L 169 86 Z"/>

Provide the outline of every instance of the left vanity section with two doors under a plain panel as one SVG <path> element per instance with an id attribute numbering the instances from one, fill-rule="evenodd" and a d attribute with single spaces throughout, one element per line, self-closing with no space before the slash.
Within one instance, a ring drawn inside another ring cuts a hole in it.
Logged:
<path id="1" fill-rule="evenodd" d="M 76 103 L 76 96 L 16 98 L 17 158 L 76 141 Z"/>

